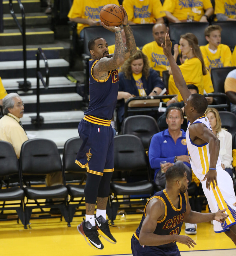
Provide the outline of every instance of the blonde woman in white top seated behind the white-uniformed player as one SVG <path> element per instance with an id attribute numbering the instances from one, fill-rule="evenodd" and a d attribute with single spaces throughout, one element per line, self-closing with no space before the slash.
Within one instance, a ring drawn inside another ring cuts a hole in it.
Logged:
<path id="1" fill-rule="evenodd" d="M 221 160 L 221 166 L 228 174 L 230 174 L 231 178 L 233 178 L 232 135 L 230 132 L 221 128 L 221 120 L 217 109 L 207 108 L 205 114 L 209 119 L 212 132 L 220 140 L 219 158 Z"/>

